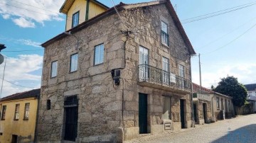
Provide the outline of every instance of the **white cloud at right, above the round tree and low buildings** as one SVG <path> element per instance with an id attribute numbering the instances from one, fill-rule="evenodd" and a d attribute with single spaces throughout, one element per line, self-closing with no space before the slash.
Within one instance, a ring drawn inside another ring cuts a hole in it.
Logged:
<path id="1" fill-rule="evenodd" d="M 237 63 L 233 65 L 218 64 L 204 67 L 208 71 L 202 70 L 202 86 L 210 88 L 211 85 L 218 86 L 220 79 L 226 76 L 234 76 L 238 78 L 241 84 L 256 83 L 256 64 L 252 63 Z M 202 69 L 204 69 L 202 68 Z M 199 84 L 199 72 L 193 71 L 193 82 Z"/>

